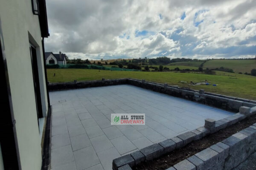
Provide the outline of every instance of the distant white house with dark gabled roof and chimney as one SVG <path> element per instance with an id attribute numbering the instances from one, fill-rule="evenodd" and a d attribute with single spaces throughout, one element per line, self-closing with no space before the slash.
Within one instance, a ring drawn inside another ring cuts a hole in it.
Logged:
<path id="1" fill-rule="evenodd" d="M 52 52 L 45 53 L 45 62 L 46 64 L 58 64 L 66 65 L 66 54 L 62 54 L 61 51 L 59 54 L 53 54 Z"/>

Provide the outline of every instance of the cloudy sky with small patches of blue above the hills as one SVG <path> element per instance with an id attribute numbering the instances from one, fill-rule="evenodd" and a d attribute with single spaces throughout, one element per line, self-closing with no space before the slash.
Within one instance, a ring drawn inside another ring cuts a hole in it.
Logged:
<path id="1" fill-rule="evenodd" d="M 70 59 L 248 58 L 256 0 L 47 0 L 45 50 Z"/>

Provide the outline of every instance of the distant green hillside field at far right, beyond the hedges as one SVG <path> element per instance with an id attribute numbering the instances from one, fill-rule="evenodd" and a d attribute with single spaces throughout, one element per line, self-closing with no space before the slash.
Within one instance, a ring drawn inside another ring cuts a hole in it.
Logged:
<path id="1" fill-rule="evenodd" d="M 256 59 L 213 59 L 204 63 L 204 68 L 231 68 L 235 73 L 250 73 L 256 68 Z"/>

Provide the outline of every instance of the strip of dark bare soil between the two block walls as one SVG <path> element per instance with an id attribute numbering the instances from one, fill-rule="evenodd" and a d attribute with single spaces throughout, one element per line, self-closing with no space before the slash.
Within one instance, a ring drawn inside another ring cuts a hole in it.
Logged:
<path id="1" fill-rule="evenodd" d="M 234 133 L 237 133 L 240 130 L 243 130 L 244 128 L 249 127 L 255 122 L 256 122 L 256 115 L 253 115 L 249 118 L 242 120 L 241 122 L 236 123 L 235 125 L 231 125 L 230 127 L 227 127 L 216 133 L 205 136 L 203 139 L 199 141 L 194 141 L 183 148 L 174 150 L 169 154 L 163 155 L 159 159 L 154 159 L 152 161 L 145 161 L 133 167 L 133 170 L 166 170 L 168 167 L 172 167 L 173 165 L 177 164 L 178 162 L 186 158 L 189 158 L 195 153 L 198 153 L 201 150 L 204 150 L 207 147 L 210 147 L 211 145 L 216 144 L 228 138 L 229 136 L 232 136 Z M 255 154 L 255 158 L 256 158 L 256 154 Z M 248 164 L 250 164 L 250 166 L 252 167 L 254 166 L 254 168 L 253 169 L 245 168 L 245 169 L 236 169 L 236 170 L 256 170 L 255 168 L 256 159 L 254 159 L 254 161 L 248 161 Z"/>

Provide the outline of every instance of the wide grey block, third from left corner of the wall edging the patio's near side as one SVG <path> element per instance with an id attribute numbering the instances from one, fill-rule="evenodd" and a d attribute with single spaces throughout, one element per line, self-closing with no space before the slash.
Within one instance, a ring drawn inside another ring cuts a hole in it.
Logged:
<path id="1" fill-rule="evenodd" d="M 141 149 L 140 152 L 145 155 L 146 160 L 152 160 L 163 155 L 163 150 L 163 147 L 159 144 L 152 144 L 148 147 Z"/>

